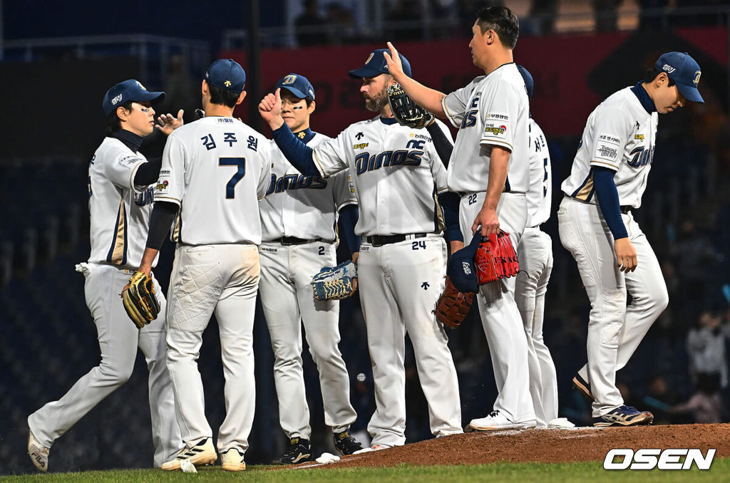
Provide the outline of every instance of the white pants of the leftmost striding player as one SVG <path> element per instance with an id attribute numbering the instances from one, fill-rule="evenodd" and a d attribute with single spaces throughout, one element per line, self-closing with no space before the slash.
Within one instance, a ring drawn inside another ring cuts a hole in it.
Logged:
<path id="1" fill-rule="evenodd" d="M 99 333 L 101 363 L 82 376 L 61 399 L 47 403 L 28 416 L 28 426 L 38 441 L 50 447 L 96 404 L 127 382 L 134 370 L 139 347 L 150 371 L 153 463 L 159 467 L 172 460 L 183 447 L 180 428 L 174 418 L 172 385 L 166 366 L 166 303 L 160 284 L 155 279 L 160 314 L 145 328 L 137 329 L 129 320 L 119 296 L 133 271 L 99 263 L 80 263 L 77 271 L 85 277 L 86 306 Z"/>

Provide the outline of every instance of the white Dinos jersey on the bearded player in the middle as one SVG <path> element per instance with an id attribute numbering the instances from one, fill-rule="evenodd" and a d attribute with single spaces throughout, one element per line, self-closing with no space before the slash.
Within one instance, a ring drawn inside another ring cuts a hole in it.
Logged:
<path id="1" fill-rule="evenodd" d="M 447 190 L 446 169 L 426 129 L 386 124 L 377 116 L 322 142 L 313 158 L 323 177 L 350 168 L 360 209 L 356 234 L 442 231 L 436 194 Z"/>

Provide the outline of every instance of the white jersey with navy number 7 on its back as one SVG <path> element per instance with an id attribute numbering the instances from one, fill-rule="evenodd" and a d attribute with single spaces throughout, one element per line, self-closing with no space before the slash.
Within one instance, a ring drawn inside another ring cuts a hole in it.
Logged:
<path id="1" fill-rule="evenodd" d="M 260 244 L 258 199 L 269 188 L 271 165 L 271 143 L 232 117 L 175 129 L 155 188 L 157 199 L 180 205 L 172 241 Z"/>

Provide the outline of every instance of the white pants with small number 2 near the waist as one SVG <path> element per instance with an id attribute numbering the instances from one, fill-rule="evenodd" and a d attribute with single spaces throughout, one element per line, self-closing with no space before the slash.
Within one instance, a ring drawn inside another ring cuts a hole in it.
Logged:
<path id="1" fill-rule="evenodd" d="M 310 439 L 310 410 L 301 368 L 301 325 L 317 364 L 325 424 L 344 431 L 357 419 L 350 403 L 350 378 L 339 352 L 339 301 L 315 301 L 312 277 L 337 265 L 334 244 L 264 242 L 261 257 L 261 306 L 274 349 L 274 382 L 279 420 L 288 438 Z"/>

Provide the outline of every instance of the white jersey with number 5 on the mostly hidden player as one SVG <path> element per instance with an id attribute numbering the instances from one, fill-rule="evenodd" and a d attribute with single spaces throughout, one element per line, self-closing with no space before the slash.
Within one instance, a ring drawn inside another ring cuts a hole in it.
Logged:
<path id="1" fill-rule="evenodd" d="M 530 189 L 527 192 L 527 226 L 548 221 L 553 198 L 553 168 L 545 133 L 530 118 Z"/>

